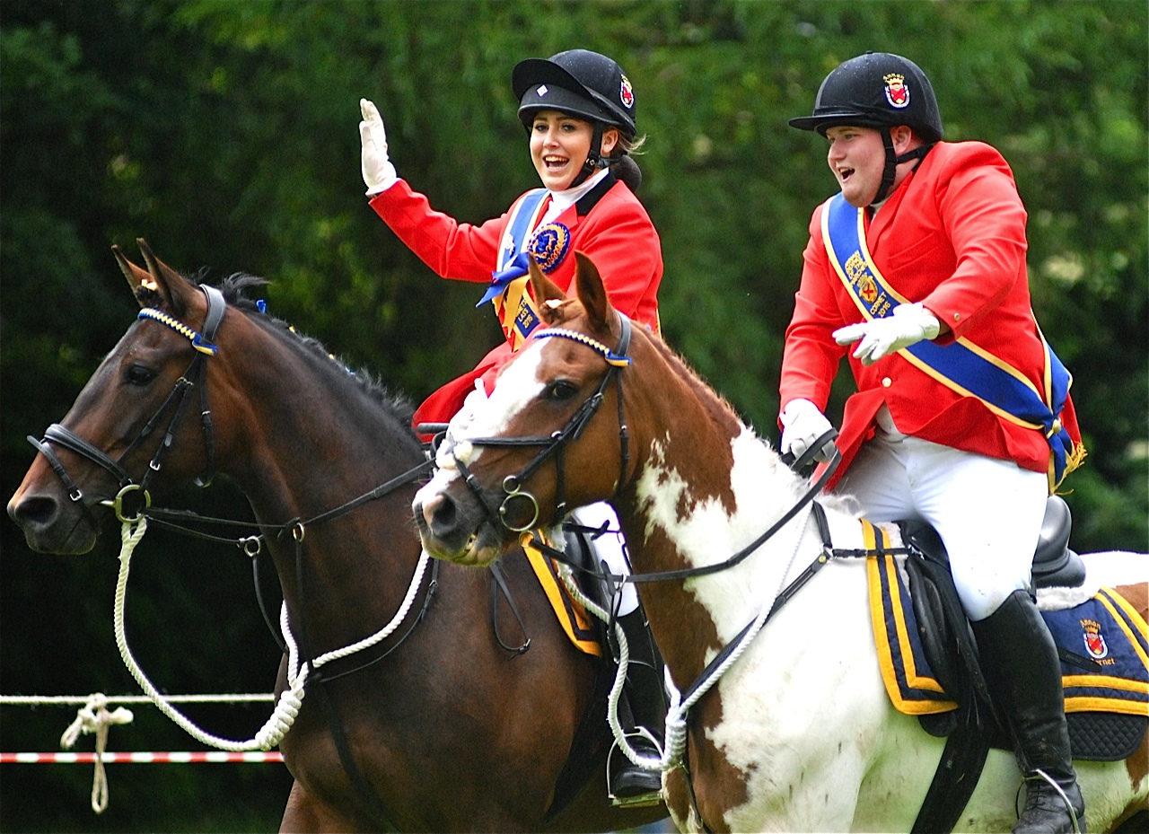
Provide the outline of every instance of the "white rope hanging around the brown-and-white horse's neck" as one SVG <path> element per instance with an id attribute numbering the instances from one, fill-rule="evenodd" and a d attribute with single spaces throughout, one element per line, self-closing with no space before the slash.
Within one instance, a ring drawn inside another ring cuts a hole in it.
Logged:
<path id="1" fill-rule="evenodd" d="M 623 694 L 623 685 L 626 681 L 626 670 L 630 665 L 631 650 L 626 642 L 626 635 L 623 633 L 623 627 L 617 621 L 615 623 L 615 635 L 618 639 L 618 669 L 615 673 L 615 682 L 610 687 L 610 694 L 607 698 L 607 721 L 610 725 L 610 729 L 615 735 L 615 742 L 618 744 L 619 750 L 626 756 L 635 766 L 642 767 L 651 771 L 668 771 L 676 767 L 683 757 L 683 751 L 686 749 L 686 718 L 689 713 L 691 708 L 699 702 L 699 700 L 705 695 L 715 684 L 726 673 L 738 658 L 742 656 L 754 641 L 754 638 L 762 631 L 765 625 L 766 617 L 770 615 L 770 610 L 774 605 L 774 601 L 781 593 L 782 587 L 786 584 L 786 577 L 789 576 L 791 567 L 794 564 L 794 559 L 797 557 L 799 547 L 802 543 L 803 533 L 805 532 L 805 526 L 810 519 L 810 511 L 812 507 L 808 507 L 802 517 L 802 523 L 797 526 L 797 536 L 794 541 L 794 549 L 791 553 L 789 561 L 786 563 L 786 569 L 781 573 L 781 578 L 778 582 L 778 588 L 774 590 L 773 596 L 770 599 L 769 604 L 764 604 L 758 612 L 758 616 L 754 620 L 754 625 L 750 630 L 742 636 L 739 644 L 726 656 L 726 658 L 710 673 L 710 675 L 694 690 L 686 701 L 683 701 L 683 694 L 674 686 L 674 681 L 670 675 L 670 669 L 664 667 L 665 688 L 669 696 L 670 705 L 666 711 L 665 718 L 665 731 L 664 731 L 664 743 L 662 749 L 662 755 L 658 758 L 641 756 L 639 755 L 630 742 L 626 740 L 626 733 L 618 720 L 618 700 Z M 610 621 L 610 615 L 600 605 L 595 604 L 594 601 L 588 599 L 583 590 L 578 587 L 578 582 L 574 580 L 573 569 L 565 564 L 558 564 L 558 576 L 563 580 L 563 585 L 566 586 L 566 590 L 570 592 L 571 596 L 580 602 L 587 611 L 601 619 L 603 623 Z M 657 747 L 657 746 L 656 746 Z"/>

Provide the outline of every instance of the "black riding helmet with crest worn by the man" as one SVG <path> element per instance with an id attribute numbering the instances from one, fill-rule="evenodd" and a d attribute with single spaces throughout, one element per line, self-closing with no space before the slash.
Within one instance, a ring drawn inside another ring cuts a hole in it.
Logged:
<path id="1" fill-rule="evenodd" d="M 840 63 L 818 87 L 813 114 L 789 119 L 792 128 L 826 136 L 838 125 L 877 128 L 886 146 L 886 169 L 874 202 L 885 199 L 899 163 L 924 157 L 942 137 L 933 85 L 921 68 L 888 52 L 867 52 Z M 926 145 L 894 155 L 889 129 L 904 124 Z"/>

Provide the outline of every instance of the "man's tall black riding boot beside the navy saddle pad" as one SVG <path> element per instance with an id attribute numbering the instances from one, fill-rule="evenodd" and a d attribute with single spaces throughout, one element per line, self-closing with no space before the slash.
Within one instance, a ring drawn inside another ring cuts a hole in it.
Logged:
<path id="1" fill-rule="evenodd" d="M 989 617 L 973 624 L 973 634 L 990 697 L 1008 725 L 1025 775 L 1025 810 L 1013 832 L 1085 832 L 1085 800 L 1070 755 L 1061 661 L 1038 607 L 1026 592 L 1016 590 Z"/>

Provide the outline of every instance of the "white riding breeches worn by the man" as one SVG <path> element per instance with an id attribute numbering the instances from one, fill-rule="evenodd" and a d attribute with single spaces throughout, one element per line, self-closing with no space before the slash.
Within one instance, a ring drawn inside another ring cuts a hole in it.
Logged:
<path id="1" fill-rule="evenodd" d="M 1012 461 L 879 431 L 835 492 L 854 495 L 871 522 L 933 525 L 966 616 L 981 620 L 1015 590 L 1031 589 L 1048 489 L 1046 473 Z"/>

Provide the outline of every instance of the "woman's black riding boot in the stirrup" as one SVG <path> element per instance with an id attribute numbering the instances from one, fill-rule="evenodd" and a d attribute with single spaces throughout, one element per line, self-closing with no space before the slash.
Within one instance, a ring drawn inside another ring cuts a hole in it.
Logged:
<path id="1" fill-rule="evenodd" d="M 623 696 L 618 700 L 618 720 L 635 752 L 648 758 L 661 756 L 666 720 L 662 659 L 655 648 L 642 609 L 618 618 L 630 647 L 630 666 Z M 654 742 L 647 736 L 654 738 Z M 617 800 L 633 800 L 662 790 L 662 773 L 634 765 L 622 750 L 610 759 L 610 793 Z"/>

